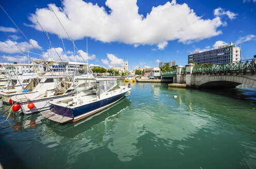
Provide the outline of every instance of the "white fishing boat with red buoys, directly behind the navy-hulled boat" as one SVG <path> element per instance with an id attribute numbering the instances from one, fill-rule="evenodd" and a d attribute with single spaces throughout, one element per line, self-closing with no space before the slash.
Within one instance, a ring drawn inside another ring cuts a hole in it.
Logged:
<path id="1" fill-rule="evenodd" d="M 89 70 L 89 68 L 87 69 Z M 46 76 L 46 74 L 32 92 L 12 96 L 12 103 L 16 103 L 12 110 L 19 111 L 21 109 L 24 114 L 48 110 L 50 108 L 50 100 L 70 97 L 80 91 L 81 88 L 86 91 L 96 85 L 96 83 L 92 85 L 90 82 L 85 89 L 84 82 L 76 80 L 77 78 L 85 78 L 86 80 L 92 78 L 92 70 L 85 74 L 79 74 L 78 71 L 74 71 L 74 76 L 67 75 L 66 72 L 51 72 L 51 74 L 58 74 L 58 76 Z"/>

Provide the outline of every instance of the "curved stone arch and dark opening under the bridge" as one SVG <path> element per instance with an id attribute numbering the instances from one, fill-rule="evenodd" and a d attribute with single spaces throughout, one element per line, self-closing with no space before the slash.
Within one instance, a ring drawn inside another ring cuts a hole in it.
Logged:
<path id="1" fill-rule="evenodd" d="M 197 81 L 197 79 L 195 79 Z M 196 86 L 201 88 L 207 88 L 207 87 L 223 87 L 223 88 L 234 88 L 238 85 L 245 84 L 250 87 L 253 86 L 253 83 L 255 82 L 254 79 L 250 79 L 248 77 L 243 76 L 232 76 L 232 75 L 216 75 L 216 76 L 208 76 L 205 78 L 201 78 L 198 82 L 196 82 Z M 256 83 L 256 82 L 255 82 Z"/>

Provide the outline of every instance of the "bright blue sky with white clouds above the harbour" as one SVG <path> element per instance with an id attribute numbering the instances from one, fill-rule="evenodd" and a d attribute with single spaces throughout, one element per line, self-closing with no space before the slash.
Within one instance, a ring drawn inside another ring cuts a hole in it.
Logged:
<path id="1" fill-rule="evenodd" d="M 28 63 L 29 54 L 30 61 L 88 60 L 107 69 L 124 66 L 125 58 L 128 70 L 170 60 L 184 66 L 191 52 L 229 42 L 241 45 L 243 60 L 256 55 L 256 0 L 2 0 L 0 5 L 18 26 L 0 9 L 0 62 Z"/>

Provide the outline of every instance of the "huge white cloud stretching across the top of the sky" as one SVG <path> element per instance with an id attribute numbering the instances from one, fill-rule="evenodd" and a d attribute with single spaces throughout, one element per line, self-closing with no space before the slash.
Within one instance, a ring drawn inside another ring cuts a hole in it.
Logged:
<path id="1" fill-rule="evenodd" d="M 92 37 L 102 42 L 118 41 L 136 47 L 138 44 L 153 45 L 172 40 L 191 43 L 222 33 L 217 30 L 223 24 L 219 16 L 203 19 L 187 4 L 177 4 L 175 0 L 153 7 L 146 16 L 138 13 L 137 0 L 107 0 L 110 14 L 104 7 L 82 0 L 64 0 L 62 5 L 49 4 L 69 35 L 76 40 Z M 68 38 L 50 8 L 37 9 L 29 16 L 31 26 L 41 31 L 34 15 L 49 33 Z"/>

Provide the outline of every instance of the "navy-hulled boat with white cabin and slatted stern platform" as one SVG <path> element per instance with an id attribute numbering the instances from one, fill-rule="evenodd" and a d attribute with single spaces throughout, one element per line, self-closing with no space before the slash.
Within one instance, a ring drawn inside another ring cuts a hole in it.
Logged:
<path id="1" fill-rule="evenodd" d="M 81 91 L 72 97 L 52 100 L 50 110 L 41 114 L 58 123 L 76 122 L 115 104 L 130 89 L 130 85 L 117 85 L 116 79 L 96 79 L 96 86 L 92 89 Z"/>

